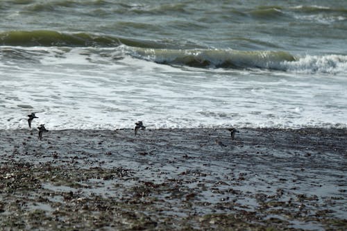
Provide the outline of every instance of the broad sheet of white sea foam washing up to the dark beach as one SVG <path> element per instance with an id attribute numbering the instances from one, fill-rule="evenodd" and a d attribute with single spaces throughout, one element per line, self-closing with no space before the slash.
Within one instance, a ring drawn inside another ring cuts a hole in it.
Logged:
<path id="1" fill-rule="evenodd" d="M 0 129 L 28 128 L 31 112 L 33 128 L 53 130 L 347 127 L 344 55 L 274 71 L 160 65 L 124 47 L 29 50 L 31 61 L 0 62 Z"/>

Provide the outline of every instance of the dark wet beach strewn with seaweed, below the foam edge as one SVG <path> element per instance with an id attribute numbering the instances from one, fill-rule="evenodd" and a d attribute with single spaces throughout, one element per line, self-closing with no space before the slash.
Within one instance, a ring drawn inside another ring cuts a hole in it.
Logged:
<path id="1" fill-rule="evenodd" d="M 0 130 L 0 230 L 347 230 L 347 130 L 239 131 Z"/>

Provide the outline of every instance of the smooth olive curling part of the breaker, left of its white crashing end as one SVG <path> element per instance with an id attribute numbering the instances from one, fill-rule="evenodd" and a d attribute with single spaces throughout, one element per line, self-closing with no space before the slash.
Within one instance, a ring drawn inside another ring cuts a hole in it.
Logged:
<path id="1" fill-rule="evenodd" d="M 281 62 L 295 60 L 285 51 L 135 49 L 133 55 L 160 64 L 207 68 L 278 69 Z"/>

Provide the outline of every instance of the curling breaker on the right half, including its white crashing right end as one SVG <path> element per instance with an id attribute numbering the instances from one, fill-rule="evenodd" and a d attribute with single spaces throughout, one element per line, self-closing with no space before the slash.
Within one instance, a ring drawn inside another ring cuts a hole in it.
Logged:
<path id="1" fill-rule="evenodd" d="M 347 55 L 296 56 L 286 51 L 135 49 L 136 58 L 165 65 L 225 69 L 270 69 L 297 73 L 347 72 Z"/>

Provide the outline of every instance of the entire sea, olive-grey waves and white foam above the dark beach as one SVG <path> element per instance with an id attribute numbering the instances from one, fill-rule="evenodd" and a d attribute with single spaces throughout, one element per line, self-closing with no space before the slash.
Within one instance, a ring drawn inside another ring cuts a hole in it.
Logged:
<path id="1" fill-rule="evenodd" d="M 0 129 L 346 128 L 347 1 L 0 4 Z"/>

